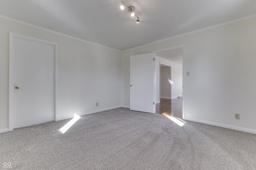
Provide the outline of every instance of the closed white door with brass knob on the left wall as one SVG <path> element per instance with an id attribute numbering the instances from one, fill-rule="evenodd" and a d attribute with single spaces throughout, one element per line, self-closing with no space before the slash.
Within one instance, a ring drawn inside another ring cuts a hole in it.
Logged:
<path id="1" fill-rule="evenodd" d="M 54 45 L 13 39 L 13 127 L 54 120 Z"/>

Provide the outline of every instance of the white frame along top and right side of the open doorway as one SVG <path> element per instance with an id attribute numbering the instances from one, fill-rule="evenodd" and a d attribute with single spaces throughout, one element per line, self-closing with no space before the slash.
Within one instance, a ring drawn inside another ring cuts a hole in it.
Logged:
<path id="1" fill-rule="evenodd" d="M 180 45 L 180 46 L 176 46 L 176 47 L 171 47 L 171 48 L 167 48 L 167 49 L 161 49 L 161 50 L 156 50 L 156 51 L 153 51 L 153 53 L 160 53 L 160 52 L 164 52 L 164 51 L 172 51 L 172 50 L 176 50 L 176 49 L 182 49 L 183 53 L 182 53 L 182 119 L 186 119 L 185 117 L 185 89 L 186 89 L 186 79 L 185 79 L 185 76 L 186 76 L 186 62 L 185 62 L 185 45 Z M 160 86 L 159 86 L 160 88 Z M 160 94 L 159 94 L 160 96 Z"/>

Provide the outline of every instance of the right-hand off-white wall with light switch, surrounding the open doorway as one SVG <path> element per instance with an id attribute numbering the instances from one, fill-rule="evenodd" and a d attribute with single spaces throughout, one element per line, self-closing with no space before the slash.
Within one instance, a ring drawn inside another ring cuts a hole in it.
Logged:
<path id="1" fill-rule="evenodd" d="M 123 104 L 129 106 L 130 55 L 184 45 L 185 118 L 256 133 L 255 30 L 250 18 L 123 52 Z"/>

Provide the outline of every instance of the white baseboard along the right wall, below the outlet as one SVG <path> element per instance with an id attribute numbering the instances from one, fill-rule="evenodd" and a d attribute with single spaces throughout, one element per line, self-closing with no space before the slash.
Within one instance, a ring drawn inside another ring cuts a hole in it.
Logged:
<path id="1" fill-rule="evenodd" d="M 222 124 L 222 123 L 215 123 L 215 122 L 211 122 L 211 121 L 204 121 L 204 120 L 199 120 L 199 119 L 193 119 L 193 118 L 188 118 L 188 117 L 185 117 L 185 120 L 194 121 L 194 122 L 198 122 L 198 123 L 204 123 L 207 125 L 213 125 L 213 126 L 218 126 L 218 127 L 224 127 L 224 128 L 233 129 L 236 131 L 242 131 L 242 132 L 256 134 L 256 130 L 254 130 L 254 129 L 247 129 L 247 128 L 243 128 L 243 127 L 237 127 L 237 126 L 226 125 L 226 124 Z"/>

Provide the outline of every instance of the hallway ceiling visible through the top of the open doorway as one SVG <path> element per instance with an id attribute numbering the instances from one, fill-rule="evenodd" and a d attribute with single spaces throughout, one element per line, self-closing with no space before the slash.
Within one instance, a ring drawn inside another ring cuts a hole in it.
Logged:
<path id="1" fill-rule="evenodd" d="M 164 51 L 161 53 L 156 53 L 157 56 L 162 57 L 166 60 L 172 61 L 174 63 L 182 64 L 182 56 L 183 56 L 183 50 L 182 49 L 176 49 L 171 51 Z"/>

